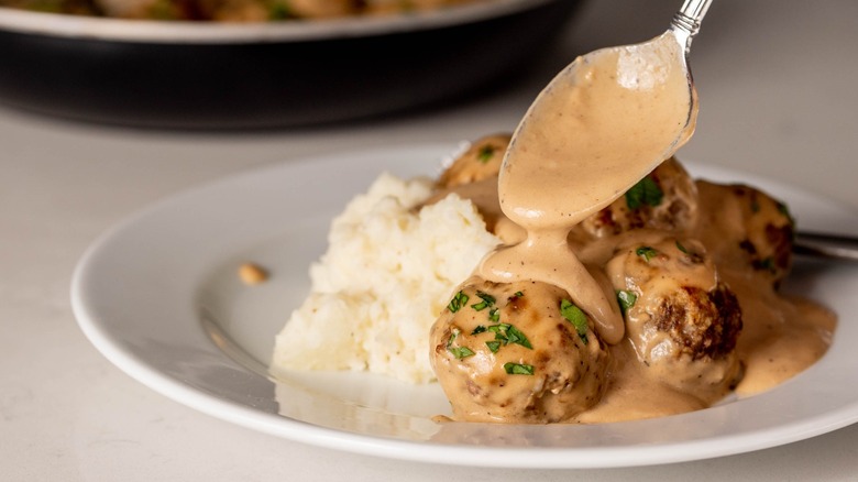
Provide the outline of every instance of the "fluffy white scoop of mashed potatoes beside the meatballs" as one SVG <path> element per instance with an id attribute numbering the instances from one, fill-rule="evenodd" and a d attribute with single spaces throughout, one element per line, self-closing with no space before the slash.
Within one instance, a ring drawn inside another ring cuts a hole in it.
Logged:
<path id="1" fill-rule="evenodd" d="M 383 174 L 333 220 L 311 292 L 275 340 L 272 371 L 352 370 L 426 383 L 429 329 L 451 291 L 499 244 L 457 195 Z"/>

